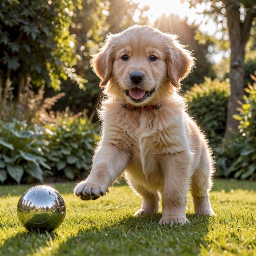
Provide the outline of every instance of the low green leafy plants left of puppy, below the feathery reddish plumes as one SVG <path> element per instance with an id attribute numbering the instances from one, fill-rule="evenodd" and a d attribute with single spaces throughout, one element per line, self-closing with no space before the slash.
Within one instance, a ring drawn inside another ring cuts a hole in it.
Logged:
<path id="1" fill-rule="evenodd" d="M 26 121 L 0 121 L 0 182 L 43 182 L 52 176 L 85 177 L 99 139 L 97 124 L 87 115 L 58 114 L 44 128 Z"/>

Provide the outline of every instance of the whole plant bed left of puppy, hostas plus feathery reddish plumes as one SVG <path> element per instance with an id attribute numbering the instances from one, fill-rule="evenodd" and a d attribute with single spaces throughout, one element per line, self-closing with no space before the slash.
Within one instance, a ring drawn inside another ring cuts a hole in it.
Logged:
<path id="1" fill-rule="evenodd" d="M 0 182 L 85 177 L 99 140 L 98 123 L 93 124 L 86 112 L 52 111 L 64 93 L 44 99 L 44 86 L 35 93 L 29 82 L 20 95 L 19 108 L 12 102 L 11 81 L 7 95 L 0 97 Z"/>

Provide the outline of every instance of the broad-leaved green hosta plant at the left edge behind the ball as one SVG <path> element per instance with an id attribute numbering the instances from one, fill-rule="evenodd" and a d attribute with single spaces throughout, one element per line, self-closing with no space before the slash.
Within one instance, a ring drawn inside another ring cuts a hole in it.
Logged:
<path id="1" fill-rule="evenodd" d="M 26 122 L 13 119 L 0 121 L 0 181 L 3 183 L 31 180 L 43 182 L 42 168 L 46 164 L 42 146 L 43 131 L 38 127 L 28 130 Z"/>

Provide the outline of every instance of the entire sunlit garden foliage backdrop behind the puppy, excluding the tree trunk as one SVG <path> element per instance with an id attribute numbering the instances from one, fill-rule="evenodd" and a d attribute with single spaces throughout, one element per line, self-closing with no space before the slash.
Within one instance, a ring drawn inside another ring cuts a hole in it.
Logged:
<path id="1" fill-rule="evenodd" d="M 232 1 L 243 22 L 252 2 Z M 149 6 L 132 0 L 0 1 L 0 182 L 85 177 L 99 140 L 95 113 L 102 97 L 90 58 L 108 33 L 135 23 L 176 34 L 193 51 L 196 68 L 180 93 L 209 138 L 216 177 L 255 180 L 256 18 L 245 46 L 239 127 L 227 141 L 231 50 L 225 1 L 187 2 L 191 8 L 204 4 L 201 23 L 215 22 L 214 34 L 175 14 L 159 13 L 152 22 L 150 1 Z"/>

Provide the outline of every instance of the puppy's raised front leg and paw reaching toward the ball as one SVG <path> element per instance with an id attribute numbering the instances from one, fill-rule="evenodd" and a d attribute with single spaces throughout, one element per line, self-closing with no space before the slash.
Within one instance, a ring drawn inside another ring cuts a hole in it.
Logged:
<path id="1" fill-rule="evenodd" d="M 99 146 L 86 180 L 79 182 L 74 193 L 82 200 L 95 200 L 103 196 L 115 180 L 124 172 L 129 156 L 115 146 Z"/>

